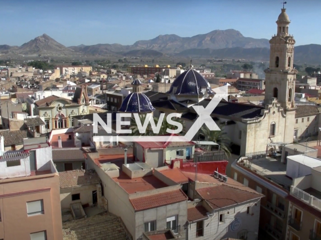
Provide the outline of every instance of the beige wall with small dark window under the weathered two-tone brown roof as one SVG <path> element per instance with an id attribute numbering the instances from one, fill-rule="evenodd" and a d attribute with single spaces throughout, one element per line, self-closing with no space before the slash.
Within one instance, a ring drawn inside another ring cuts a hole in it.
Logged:
<path id="1" fill-rule="evenodd" d="M 73 202 L 71 200 L 71 195 L 77 193 L 80 193 L 80 201 L 82 205 L 87 203 L 92 205 L 92 191 L 95 190 L 97 190 L 96 184 L 60 189 L 61 210 L 70 210 L 70 203 Z"/>

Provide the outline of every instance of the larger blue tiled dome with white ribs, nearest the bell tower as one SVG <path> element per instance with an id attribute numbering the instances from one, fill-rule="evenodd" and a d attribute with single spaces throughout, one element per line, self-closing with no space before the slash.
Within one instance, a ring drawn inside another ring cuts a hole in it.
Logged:
<path id="1" fill-rule="evenodd" d="M 214 95 L 210 83 L 204 78 L 202 74 L 194 69 L 188 69 L 179 75 L 168 93 L 181 95 L 204 95 L 204 90 L 209 95 Z"/>

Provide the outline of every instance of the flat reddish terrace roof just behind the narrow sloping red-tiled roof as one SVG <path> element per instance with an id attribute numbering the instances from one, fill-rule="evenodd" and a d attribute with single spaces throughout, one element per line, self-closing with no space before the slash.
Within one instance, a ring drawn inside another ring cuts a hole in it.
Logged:
<path id="1" fill-rule="evenodd" d="M 154 175 L 131 179 L 124 172 L 119 172 L 119 176 L 114 177 L 113 179 L 129 194 L 168 186 Z"/>

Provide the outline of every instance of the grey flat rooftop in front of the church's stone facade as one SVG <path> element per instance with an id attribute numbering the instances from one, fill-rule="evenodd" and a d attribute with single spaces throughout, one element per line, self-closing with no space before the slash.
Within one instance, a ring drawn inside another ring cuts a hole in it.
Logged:
<path id="1" fill-rule="evenodd" d="M 271 181 L 281 185 L 285 184 L 290 186 L 292 179 L 286 176 L 286 164 L 281 163 L 279 160 L 274 158 L 259 158 L 252 159 L 251 170 L 257 170 L 256 173 L 266 176 Z"/>

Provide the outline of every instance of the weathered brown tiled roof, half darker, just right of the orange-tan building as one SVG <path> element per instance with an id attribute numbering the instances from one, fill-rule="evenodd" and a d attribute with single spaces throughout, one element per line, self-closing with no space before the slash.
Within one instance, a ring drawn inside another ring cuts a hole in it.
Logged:
<path id="1" fill-rule="evenodd" d="M 60 188 L 91 185 L 100 182 L 95 170 L 71 170 L 59 172 Z"/>

